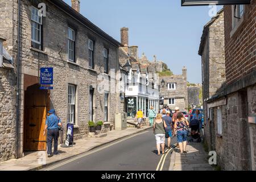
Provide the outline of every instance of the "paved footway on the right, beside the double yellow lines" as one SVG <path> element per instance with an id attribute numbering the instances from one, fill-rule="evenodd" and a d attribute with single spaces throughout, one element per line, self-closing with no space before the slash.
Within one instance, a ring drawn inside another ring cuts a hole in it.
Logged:
<path id="1" fill-rule="evenodd" d="M 208 162 L 207 152 L 202 143 L 189 143 L 187 154 L 179 154 L 179 148 L 175 148 L 171 155 L 169 171 L 213 171 L 214 168 Z"/>

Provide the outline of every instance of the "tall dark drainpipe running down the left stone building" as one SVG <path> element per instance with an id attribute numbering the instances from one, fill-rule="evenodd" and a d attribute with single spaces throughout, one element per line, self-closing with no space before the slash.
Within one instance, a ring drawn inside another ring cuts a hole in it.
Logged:
<path id="1" fill-rule="evenodd" d="M 20 0 L 18 0 L 18 45 L 17 45 L 17 80 L 16 80 L 16 159 L 18 159 L 18 139 L 19 139 L 19 57 L 20 57 Z"/>

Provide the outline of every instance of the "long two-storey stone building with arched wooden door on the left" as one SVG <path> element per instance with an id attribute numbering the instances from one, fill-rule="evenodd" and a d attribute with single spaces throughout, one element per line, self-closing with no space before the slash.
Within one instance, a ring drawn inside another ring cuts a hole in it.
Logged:
<path id="1" fill-rule="evenodd" d="M 74 124 L 75 139 L 86 137 L 90 120 L 114 123 L 122 109 L 114 90 L 121 43 L 80 14 L 79 0 L 73 8 L 61 0 L 0 4 L 0 36 L 14 67 L 0 68 L 0 161 L 46 150 L 48 109 L 64 127 Z M 40 68 L 53 68 L 53 90 L 39 89 Z M 102 80 L 112 86 L 98 86 Z"/>

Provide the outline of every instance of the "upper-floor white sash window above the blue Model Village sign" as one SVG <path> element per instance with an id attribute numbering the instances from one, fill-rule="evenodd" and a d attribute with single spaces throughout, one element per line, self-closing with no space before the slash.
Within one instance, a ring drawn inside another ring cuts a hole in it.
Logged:
<path id="1" fill-rule="evenodd" d="M 43 16 L 36 7 L 31 7 L 31 41 L 41 45 L 42 43 Z M 34 33 L 33 33 L 34 32 Z M 34 35 L 34 36 L 33 36 Z"/>

